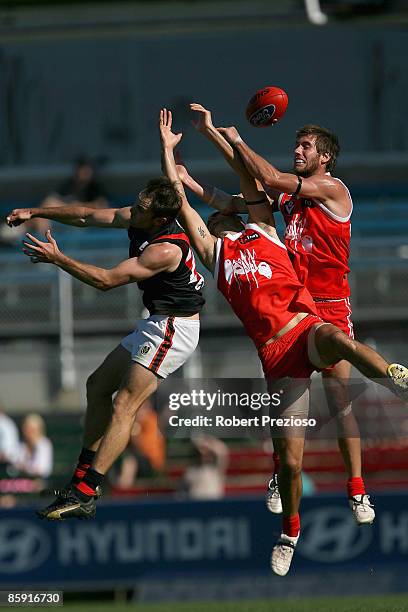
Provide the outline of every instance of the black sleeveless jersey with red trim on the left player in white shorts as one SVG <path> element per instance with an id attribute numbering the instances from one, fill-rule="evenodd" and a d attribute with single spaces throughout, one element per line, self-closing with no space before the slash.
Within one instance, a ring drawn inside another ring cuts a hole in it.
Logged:
<path id="1" fill-rule="evenodd" d="M 204 279 L 197 272 L 188 236 L 177 221 L 170 221 L 154 232 L 128 229 L 129 257 L 139 257 L 150 244 L 170 242 L 180 247 L 182 258 L 174 272 L 159 272 L 137 283 L 143 291 L 143 304 L 151 315 L 194 314 L 204 305 L 201 288 Z"/>

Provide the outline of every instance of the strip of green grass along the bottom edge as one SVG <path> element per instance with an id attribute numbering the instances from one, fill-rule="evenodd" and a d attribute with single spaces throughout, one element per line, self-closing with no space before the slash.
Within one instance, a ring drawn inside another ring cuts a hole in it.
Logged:
<path id="1" fill-rule="evenodd" d="M 50 608 L 35 608 L 50 610 Z M 307 598 L 269 601 L 226 601 L 219 603 L 64 604 L 64 612 L 408 612 L 408 594 L 373 597 Z"/>

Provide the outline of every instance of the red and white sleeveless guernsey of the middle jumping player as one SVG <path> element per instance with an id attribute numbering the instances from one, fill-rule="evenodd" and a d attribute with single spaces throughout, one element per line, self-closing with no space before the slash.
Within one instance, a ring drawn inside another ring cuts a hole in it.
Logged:
<path id="1" fill-rule="evenodd" d="M 299 312 L 316 314 L 285 245 L 255 223 L 217 242 L 217 287 L 242 321 L 257 348 Z"/>

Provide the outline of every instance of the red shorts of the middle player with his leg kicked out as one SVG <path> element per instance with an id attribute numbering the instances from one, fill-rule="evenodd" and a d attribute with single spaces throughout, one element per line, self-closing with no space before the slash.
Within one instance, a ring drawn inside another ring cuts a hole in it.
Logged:
<path id="1" fill-rule="evenodd" d="M 319 317 L 308 315 L 275 342 L 259 349 L 266 379 L 310 377 L 316 367 L 309 361 L 307 339 L 311 327 L 321 322 Z"/>

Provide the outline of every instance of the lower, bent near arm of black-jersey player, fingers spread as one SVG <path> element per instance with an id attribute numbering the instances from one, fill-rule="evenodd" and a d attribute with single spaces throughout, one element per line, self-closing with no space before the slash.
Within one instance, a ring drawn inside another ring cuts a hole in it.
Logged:
<path id="1" fill-rule="evenodd" d="M 106 269 L 72 259 L 62 253 L 50 230 L 46 233 L 47 242 L 38 240 L 32 234 L 26 235 L 23 252 L 32 263 L 54 264 L 83 283 L 101 291 L 137 283 L 159 272 L 174 272 L 182 257 L 180 247 L 163 242 L 148 246 L 140 257 L 126 259 L 114 268 Z"/>

